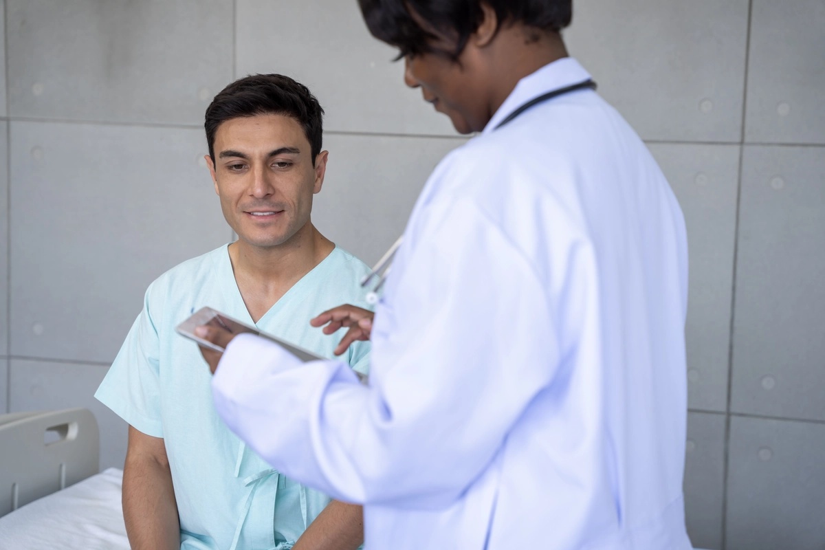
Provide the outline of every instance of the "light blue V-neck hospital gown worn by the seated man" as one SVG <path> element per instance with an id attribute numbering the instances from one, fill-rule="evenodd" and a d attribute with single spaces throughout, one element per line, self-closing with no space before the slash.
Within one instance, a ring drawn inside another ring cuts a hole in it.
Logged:
<path id="1" fill-rule="evenodd" d="M 332 358 L 344 331 L 324 335 L 309 319 L 342 303 L 368 308 L 359 285 L 368 271 L 355 256 L 335 248 L 256 326 Z M 183 262 L 149 286 L 144 310 L 95 397 L 137 430 L 164 439 L 181 548 L 290 548 L 329 498 L 279 475 L 220 420 L 209 368 L 197 345 L 175 331 L 204 306 L 253 324 L 227 245 Z M 344 357 L 366 373 L 369 343 L 357 342 Z"/>

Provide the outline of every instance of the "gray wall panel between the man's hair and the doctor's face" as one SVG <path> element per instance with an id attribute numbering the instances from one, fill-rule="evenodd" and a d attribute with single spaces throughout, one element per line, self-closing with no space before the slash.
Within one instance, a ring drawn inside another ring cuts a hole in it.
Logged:
<path id="1" fill-rule="evenodd" d="M 403 87 L 396 52 L 366 31 L 356 2 L 238 2 L 238 77 L 295 76 L 327 110 L 326 128 L 342 132 L 455 135 L 450 121 Z M 271 21 L 289 21 L 271 31 Z"/>

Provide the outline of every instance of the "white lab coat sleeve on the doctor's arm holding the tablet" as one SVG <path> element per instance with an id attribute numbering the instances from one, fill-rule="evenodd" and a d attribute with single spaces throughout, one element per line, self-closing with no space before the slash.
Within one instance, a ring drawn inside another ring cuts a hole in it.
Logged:
<path id="1" fill-rule="evenodd" d="M 300 364 L 254 336 L 229 345 L 214 377 L 232 430 L 343 501 L 449 505 L 559 363 L 549 299 L 519 248 L 469 200 L 428 218 L 376 313 L 369 387 L 345 363 Z"/>

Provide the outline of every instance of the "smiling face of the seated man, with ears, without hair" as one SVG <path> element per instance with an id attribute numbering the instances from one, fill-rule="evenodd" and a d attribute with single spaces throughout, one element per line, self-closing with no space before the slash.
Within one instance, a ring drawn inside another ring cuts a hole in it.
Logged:
<path id="1" fill-rule="evenodd" d="M 328 153 L 315 164 L 304 129 L 284 115 L 227 120 L 206 156 L 224 218 L 253 247 L 278 247 L 309 227 Z"/>

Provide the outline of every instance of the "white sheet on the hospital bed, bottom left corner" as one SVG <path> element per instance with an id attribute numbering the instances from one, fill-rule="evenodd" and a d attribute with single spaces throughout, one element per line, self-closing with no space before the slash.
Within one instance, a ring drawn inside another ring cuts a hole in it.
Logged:
<path id="1" fill-rule="evenodd" d="M 0 517 L 2 550 L 129 550 L 120 494 L 109 468 Z"/>

